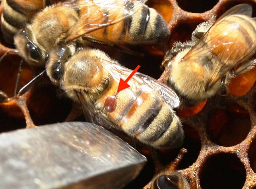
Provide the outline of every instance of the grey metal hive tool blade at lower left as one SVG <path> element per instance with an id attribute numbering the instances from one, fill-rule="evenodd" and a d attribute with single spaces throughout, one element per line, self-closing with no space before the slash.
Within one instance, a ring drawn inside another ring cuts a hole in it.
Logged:
<path id="1" fill-rule="evenodd" d="M 64 122 L 0 134 L 0 188 L 118 189 L 146 158 L 101 126 Z"/>

